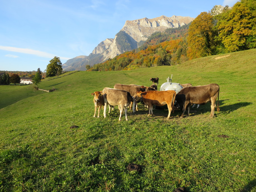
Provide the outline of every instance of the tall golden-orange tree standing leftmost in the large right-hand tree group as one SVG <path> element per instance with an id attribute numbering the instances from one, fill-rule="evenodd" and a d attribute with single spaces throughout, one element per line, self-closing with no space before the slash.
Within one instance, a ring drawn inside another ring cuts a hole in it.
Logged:
<path id="1" fill-rule="evenodd" d="M 188 29 L 188 46 L 191 48 L 190 58 L 208 56 L 213 46 L 213 16 L 210 13 L 200 13 Z"/>

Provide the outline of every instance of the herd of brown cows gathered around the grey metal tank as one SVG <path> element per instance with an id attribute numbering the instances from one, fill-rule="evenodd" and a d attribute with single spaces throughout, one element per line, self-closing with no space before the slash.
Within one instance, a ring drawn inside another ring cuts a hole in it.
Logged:
<path id="1" fill-rule="evenodd" d="M 158 78 L 150 78 L 154 84 L 150 87 L 140 86 L 135 84 L 124 85 L 117 83 L 114 85 L 114 88 L 105 87 L 102 91 L 95 91 L 91 93 L 93 95 L 93 103 L 94 103 L 94 116 L 96 117 L 96 111 L 98 109 L 98 117 L 100 114 L 100 110 L 104 108 L 104 118 L 106 117 L 107 105 L 109 105 L 109 113 L 110 110 L 114 109 L 114 106 L 118 106 L 120 110 L 119 121 L 121 120 L 121 116 L 123 110 L 125 112 L 125 119 L 127 119 L 127 108 L 133 104 L 133 112 L 137 108 L 138 102 L 143 102 L 144 105 L 147 105 L 149 109 L 148 115 L 153 114 L 153 105 L 163 106 L 167 104 L 169 113 L 167 119 L 169 119 L 171 115 L 171 111 L 174 110 L 174 103 L 183 109 L 183 112 L 180 117 L 184 116 L 185 110 L 189 109 L 191 104 L 204 105 L 207 102 L 211 102 L 211 115 L 214 116 L 214 111 L 217 102 L 217 111 L 220 111 L 219 108 L 219 85 L 212 83 L 203 86 L 192 86 L 190 83 L 181 84 L 183 89 L 181 89 L 177 94 L 173 90 L 167 91 L 157 91 Z"/>

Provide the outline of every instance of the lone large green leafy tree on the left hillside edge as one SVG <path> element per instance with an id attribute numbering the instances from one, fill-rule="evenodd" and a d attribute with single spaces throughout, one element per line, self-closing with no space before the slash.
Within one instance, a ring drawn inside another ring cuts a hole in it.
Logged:
<path id="1" fill-rule="evenodd" d="M 62 73 L 62 63 L 59 57 L 54 57 L 46 67 L 46 77 L 58 76 Z"/>

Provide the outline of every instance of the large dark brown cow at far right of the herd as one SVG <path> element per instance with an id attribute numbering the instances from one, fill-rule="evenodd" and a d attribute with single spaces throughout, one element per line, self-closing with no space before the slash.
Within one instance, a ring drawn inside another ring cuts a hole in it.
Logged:
<path id="1" fill-rule="evenodd" d="M 214 110 L 217 102 L 217 111 L 220 111 L 219 108 L 219 92 L 220 87 L 218 84 L 211 83 L 209 85 L 195 86 L 195 87 L 184 87 L 177 93 L 176 100 L 180 106 L 183 106 L 183 112 L 181 118 L 183 117 L 186 108 L 188 107 L 188 115 L 191 104 L 200 104 L 204 105 L 211 101 L 211 114 L 210 117 L 214 116 Z"/>

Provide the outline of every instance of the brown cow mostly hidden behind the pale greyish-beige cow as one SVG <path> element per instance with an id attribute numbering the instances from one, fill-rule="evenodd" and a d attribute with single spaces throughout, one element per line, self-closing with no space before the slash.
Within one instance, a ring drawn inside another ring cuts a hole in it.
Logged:
<path id="1" fill-rule="evenodd" d="M 137 91 L 145 91 L 145 88 L 143 88 L 144 86 L 139 86 L 139 85 L 124 85 L 124 84 L 120 84 L 117 83 L 114 85 L 115 89 L 121 89 L 121 90 L 125 90 L 128 91 L 132 97 L 134 97 L 133 100 L 133 112 L 135 113 L 135 108 L 137 106 L 137 102 L 141 99 L 140 97 L 136 97 L 136 92 Z M 138 108 L 136 109 L 138 110 Z"/>

